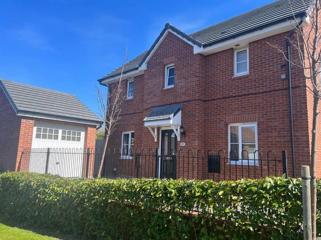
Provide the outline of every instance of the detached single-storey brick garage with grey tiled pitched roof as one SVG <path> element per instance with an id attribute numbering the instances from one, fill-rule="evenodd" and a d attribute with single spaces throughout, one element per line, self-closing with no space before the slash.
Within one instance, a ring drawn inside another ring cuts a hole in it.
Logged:
<path id="1" fill-rule="evenodd" d="M 95 148 L 100 124 L 75 95 L 0 79 L 0 165 L 5 170 L 39 172 L 32 170 L 45 159 L 40 154 L 18 169 L 25 148 Z M 80 175 L 82 162 L 77 164 Z"/>

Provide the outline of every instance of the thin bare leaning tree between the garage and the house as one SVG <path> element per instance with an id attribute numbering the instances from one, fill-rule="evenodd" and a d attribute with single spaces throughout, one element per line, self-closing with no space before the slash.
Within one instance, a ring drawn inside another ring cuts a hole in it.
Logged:
<path id="1" fill-rule="evenodd" d="M 111 87 L 108 86 L 107 92 L 101 90 L 97 85 L 95 85 L 95 89 L 97 92 L 97 103 L 99 108 L 99 117 L 105 126 L 105 144 L 103 153 L 100 159 L 100 165 L 98 169 L 98 176 L 101 174 L 101 170 L 104 164 L 104 159 L 106 155 L 108 140 L 110 135 L 115 131 L 117 123 L 121 118 L 121 107 L 123 101 L 126 99 L 126 94 L 123 91 L 123 72 L 124 67 L 127 60 L 127 47 L 124 54 L 123 65 L 121 67 L 121 73 L 119 81 Z"/>

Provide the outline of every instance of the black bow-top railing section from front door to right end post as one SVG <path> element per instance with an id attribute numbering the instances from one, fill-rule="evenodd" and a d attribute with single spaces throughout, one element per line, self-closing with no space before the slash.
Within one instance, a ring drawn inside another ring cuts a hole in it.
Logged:
<path id="1" fill-rule="evenodd" d="M 286 152 L 282 153 L 283 158 L 277 158 L 276 153 L 272 150 L 267 151 L 265 156 L 258 150 L 251 154 L 244 150 L 241 153 L 243 158 L 238 158 L 236 155 L 237 153 L 233 150 L 227 154 L 224 150 L 215 153 L 213 150 L 204 152 L 203 150 L 184 151 L 180 149 L 177 153 L 173 151 L 170 157 L 163 153 L 159 156 L 159 171 L 160 175 L 163 175 L 162 177 L 172 176 L 171 171 L 176 170 L 176 178 L 216 181 L 240 180 L 242 178 L 257 179 L 282 174 L 287 176 Z M 171 166 L 168 167 L 166 164 Z"/>

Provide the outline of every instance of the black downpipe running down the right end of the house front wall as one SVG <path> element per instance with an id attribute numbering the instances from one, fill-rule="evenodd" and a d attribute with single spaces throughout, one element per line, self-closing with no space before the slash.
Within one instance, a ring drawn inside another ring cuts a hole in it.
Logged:
<path id="1" fill-rule="evenodd" d="M 301 19 L 298 26 L 302 24 Z M 295 178 L 295 158 L 294 158 L 294 137 L 293 137 L 293 112 L 292 112 L 292 86 L 291 86 L 291 63 L 290 63 L 290 37 L 293 35 L 295 29 L 291 31 L 289 36 L 286 38 L 286 51 L 287 51 L 287 67 L 288 67 L 288 92 L 289 92 L 289 115 L 290 115 L 290 137 L 291 137 L 291 156 L 292 156 L 292 177 Z"/>

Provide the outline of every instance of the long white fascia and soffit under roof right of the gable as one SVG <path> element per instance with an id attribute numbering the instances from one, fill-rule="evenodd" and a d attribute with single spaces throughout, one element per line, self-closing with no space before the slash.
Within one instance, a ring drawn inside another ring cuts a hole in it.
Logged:
<path id="1" fill-rule="evenodd" d="M 297 22 L 300 21 L 299 18 L 297 18 L 296 20 Z M 195 51 L 195 48 L 194 48 L 194 54 L 201 53 L 206 56 L 206 55 L 209 55 L 215 52 L 221 52 L 230 48 L 239 48 L 242 46 L 247 46 L 249 43 L 260 40 L 262 38 L 293 30 L 293 25 L 296 25 L 295 20 L 292 20 L 290 22 L 286 20 L 286 21 L 277 23 L 275 25 L 262 28 L 261 30 L 256 30 L 254 32 L 247 33 L 247 34 L 238 36 L 236 38 L 229 39 L 224 42 L 213 44 L 212 46 L 202 47 L 200 51 Z M 236 47 L 235 46 L 236 44 L 239 44 L 239 46 Z"/>

